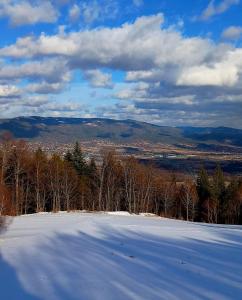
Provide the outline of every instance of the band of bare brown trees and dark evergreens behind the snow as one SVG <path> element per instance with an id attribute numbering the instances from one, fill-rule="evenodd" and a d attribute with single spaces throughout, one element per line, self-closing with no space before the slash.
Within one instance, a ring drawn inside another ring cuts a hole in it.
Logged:
<path id="1" fill-rule="evenodd" d="M 164 172 L 133 157 L 103 152 L 86 160 L 78 143 L 51 157 L 23 141 L 0 147 L 0 215 L 60 210 L 154 213 L 208 223 L 242 224 L 242 181 L 225 179 L 219 166 L 209 176 Z"/>

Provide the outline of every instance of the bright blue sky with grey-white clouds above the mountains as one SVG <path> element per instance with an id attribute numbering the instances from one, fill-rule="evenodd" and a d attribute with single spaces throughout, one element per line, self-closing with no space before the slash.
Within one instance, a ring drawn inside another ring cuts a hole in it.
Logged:
<path id="1" fill-rule="evenodd" d="M 242 128 L 242 0 L 1 0 L 0 118 Z"/>

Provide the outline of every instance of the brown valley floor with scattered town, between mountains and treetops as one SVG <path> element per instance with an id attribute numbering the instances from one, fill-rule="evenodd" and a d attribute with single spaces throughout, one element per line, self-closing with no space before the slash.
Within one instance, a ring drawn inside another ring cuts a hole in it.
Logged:
<path id="1" fill-rule="evenodd" d="M 190 172 L 197 171 L 201 165 L 206 165 L 208 169 L 213 170 L 217 164 L 220 164 L 225 173 L 242 174 L 242 151 L 236 148 L 236 151 L 199 151 L 181 145 L 175 147 L 168 144 L 149 143 L 145 141 L 134 143 L 114 143 L 105 140 L 81 140 L 78 141 L 81 149 L 87 159 L 94 158 L 97 164 L 102 161 L 104 152 L 115 152 L 117 156 L 133 156 L 144 163 L 153 162 L 161 169 L 174 171 Z M 58 153 L 64 156 L 73 148 L 74 143 L 46 143 L 29 142 L 31 150 L 41 148 L 48 155 Z"/>

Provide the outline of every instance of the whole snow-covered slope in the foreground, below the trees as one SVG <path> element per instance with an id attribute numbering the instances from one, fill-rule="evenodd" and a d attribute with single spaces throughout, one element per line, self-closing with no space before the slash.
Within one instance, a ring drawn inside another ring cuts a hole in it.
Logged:
<path id="1" fill-rule="evenodd" d="M 152 216 L 13 219 L 0 299 L 242 299 L 242 227 Z"/>

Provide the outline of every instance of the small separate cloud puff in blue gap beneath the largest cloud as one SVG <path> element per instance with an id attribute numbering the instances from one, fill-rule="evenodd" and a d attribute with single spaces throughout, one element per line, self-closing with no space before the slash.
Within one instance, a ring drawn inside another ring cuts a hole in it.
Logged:
<path id="1" fill-rule="evenodd" d="M 100 70 L 87 70 L 83 73 L 84 78 L 94 88 L 113 88 L 112 75 Z"/>

